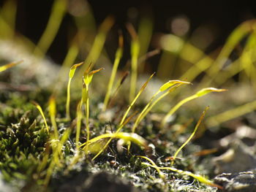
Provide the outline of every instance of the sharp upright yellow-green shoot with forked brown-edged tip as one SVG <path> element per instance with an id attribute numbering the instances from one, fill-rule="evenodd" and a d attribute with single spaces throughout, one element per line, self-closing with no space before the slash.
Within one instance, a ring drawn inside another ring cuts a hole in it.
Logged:
<path id="1" fill-rule="evenodd" d="M 94 74 L 101 71 L 104 68 L 100 68 L 94 71 L 91 71 L 92 64 L 89 65 L 86 72 L 83 74 L 83 93 L 82 93 L 82 103 L 85 105 L 86 109 L 86 132 L 87 132 L 87 141 L 90 139 L 90 128 L 89 128 L 89 85 L 91 83 L 92 77 Z M 91 71 L 91 72 L 90 72 Z M 87 149 L 86 149 L 87 151 Z"/>

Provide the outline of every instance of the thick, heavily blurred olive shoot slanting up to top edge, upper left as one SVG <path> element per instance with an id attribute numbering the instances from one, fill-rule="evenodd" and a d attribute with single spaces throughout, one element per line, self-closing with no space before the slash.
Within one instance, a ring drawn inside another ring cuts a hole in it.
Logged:
<path id="1" fill-rule="evenodd" d="M 42 34 L 42 37 L 39 39 L 36 49 L 34 50 L 34 55 L 39 56 L 39 58 L 42 58 L 45 55 L 59 31 L 66 9 L 67 0 L 54 1 L 48 24 Z"/>

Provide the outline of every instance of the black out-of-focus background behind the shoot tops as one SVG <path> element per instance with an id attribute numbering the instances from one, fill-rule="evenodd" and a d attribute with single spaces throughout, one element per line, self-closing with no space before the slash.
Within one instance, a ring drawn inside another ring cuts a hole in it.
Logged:
<path id="1" fill-rule="evenodd" d="M 1 1 L 3 4 L 4 1 Z M 116 28 L 124 29 L 125 23 L 136 25 L 140 16 L 146 12 L 154 20 L 154 33 L 170 33 L 170 23 L 173 18 L 185 17 L 189 20 L 188 36 L 200 26 L 211 26 L 217 37 L 208 47 L 209 50 L 222 45 L 225 39 L 244 20 L 255 18 L 256 7 L 254 1 L 88 1 L 94 14 L 97 26 L 108 15 L 116 18 Z M 18 0 L 18 18 L 16 30 L 38 42 L 42 35 L 53 1 Z M 61 24 L 60 31 L 48 51 L 48 55 L 61 63 L 70 36 L 70 29 L 75 28 L 72 17 L 67 14 Z M 108 48 L 108 46 L 107 46 Z M 207 50 L 206 50 L 207 51 Z M 111 52 L 111 51 L 110 51 Z"/>

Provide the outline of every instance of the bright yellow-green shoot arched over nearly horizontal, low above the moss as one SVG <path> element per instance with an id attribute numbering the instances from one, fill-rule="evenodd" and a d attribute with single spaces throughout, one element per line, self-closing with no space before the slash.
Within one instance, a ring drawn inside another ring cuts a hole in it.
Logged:
<path id="1" fill-rule="evenodd" d="M 123 139 L 126 142 L 134 142 L 136 145 L 140 147 L 147 147 L 148 142 L 146 139 L 143 139 L 143 137 L 140 137 L 138 134 L 133 134 L 133 133 L 125 133 L 125 132 L 118 132 L 118 133 L 112 133 L 112 134 L 102 134 L 99 135 L 98 137 L 94 137 L 93 139 L 90 139 L 89 141 L 83 143 L 80 145 L 80 147 L 83 147 L 83 150 L 86 149 L 86 146 L 88 147 L 94 142 L 98 142 L 101 139 L 105 138 L 111 138 L 111 139 Z M 101 150 L 102 148 L 100 148 Z"/>

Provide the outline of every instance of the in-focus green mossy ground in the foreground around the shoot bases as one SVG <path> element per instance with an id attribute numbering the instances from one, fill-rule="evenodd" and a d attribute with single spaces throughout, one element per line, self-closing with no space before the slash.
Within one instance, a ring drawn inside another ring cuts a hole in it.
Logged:
<path id="1" fill-rule="evenodd" d="M 35 188 L 40 190 L 43 188 L 42 183 L 45 172 L 50 164 L 50 158 L 48 159 L 48 166 L 45 166 L 44 170 L 39 172 L 38 168 L 42 164 L 45 151 L 50 150 L 49 134 L 45 129 L 39 112 L 30 102 L 35 97 L 39 98 L 42 95 L 45 97 L 42 97 L 44 99 L 39 102 L 45 109 L 50 91 L 42 89 L 37 91 L 37 93 L 33 91 L 23 93 L 4 91 L 1 93 L 0 169 L 2 179 L 8 183 L 7 185 L 12 185 L 14 191 L 34 191 Z M 64 118 L 64 107 L 61 107 L 61 105 L 65 104 L 64 92 L 59 96 L 58 101 L 58 118 L 56 118 L 56 121 L 59 133 L 63 133 L 65 129 L 71 126 L 72 134 L 70 134 L 69 139 L 64 145 L 62 150 L 64 159 L 61 161 L 61 166 L 54 169 L 50 184 L 46 189 L 47 191 L 58 191 L 65 183 L 72 183 L 72 180 L 75 183 L 72 186 L 73 188 L 86 188 L 85 180 L 97 172 L 119 175 L 122 180 L 129 181 L 129 183 L 132 183 L 141 191 L 214 191 L 214 188 L 200 184 L 191 177 L 170 171 L 165 172 L 167 181 L 163 182 L 155 169 L 141 164 L 143 160 L 137 158 L 136 155 L 147 155 L 157 165 L 170 166 L 168 157 L 173 155 L 178 147 L 183 144 L 184 138 L 188 137 L 189 131 L 191 131 L 189 128 L 187 134 L 179 137 L 173 137 L 175 131 L 172 130 L 162 134 L 159 129 L 159 123 L 151 120 L 150 117 L 143 121 L 143 126 L 140 127 L 138 134 L 152 143 L 155 146 L 155 151 L 144 151 L 140 147 L 132 145 L 129 153 L 127 148 L 124 148 L 124 151 L 120 153 L 117 150 L 115 139 L 110 143 L 105 153 L 96 158 L 95 161 L 83 157 L 78 164 L 68 171 L 70 159 L 75 154 L 75 120 L 70 123 Z M 72 101 L 73 103 L 74 101 Z M 91 114 L 93 116 L 90 118 L 91 137 L 109 131 L 116 131 L 116 123 L 98 120 L 97 117 L 100 110 L 97 109 L 97 104 L 99 101 L 92 101 L 92 103 Z M 72 115 L 74 114 L 72 113 Z M 46 116 L 48 119 L 48 115 Z M 82 127 L 84 126 L 83 124 Z M 124 131 L 129 131 L 130 126 L 132 126 L 132 123 L 131 125 L 128 124 Z M 195 126 L 195 124 L 192 123 L 192 126 Z M 86 139 L 83 139 L 85 137 L 86 131 L 82 129 L 80 142 L 86 141 Z M 102 140 L 102 142 L 105 141 Z M 176 168 L 205 175 L 209 174 L 210 170 L 201 164 L 199 158 L 192 155 L 202 148 L 200 145 L 190 143 L 182 151 L 182 155 L 179 155 L 181 159 L 177 159 Z M 80 181 L 76 183 L 75 180 Z M 108 188 L 108 186 L 105 187 Z"/>

